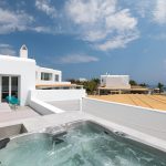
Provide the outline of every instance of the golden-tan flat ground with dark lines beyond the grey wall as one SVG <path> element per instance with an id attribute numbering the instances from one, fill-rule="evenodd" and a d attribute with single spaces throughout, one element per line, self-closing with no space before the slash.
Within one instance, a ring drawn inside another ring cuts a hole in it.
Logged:
<path id="1" fill-rule="evenodd" d="M 166 96 L 145 94 L 90 95 L 89 97 L 166 111 Z"/>

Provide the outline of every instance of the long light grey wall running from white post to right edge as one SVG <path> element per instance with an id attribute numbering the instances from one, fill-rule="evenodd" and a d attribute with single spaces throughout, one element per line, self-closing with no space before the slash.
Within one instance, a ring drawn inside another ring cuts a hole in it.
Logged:
<path id="1" fill-rule="evenodd" d="M 166 112 L 83 98 L 82 111 L 142 133 L 166 139 Z"/>

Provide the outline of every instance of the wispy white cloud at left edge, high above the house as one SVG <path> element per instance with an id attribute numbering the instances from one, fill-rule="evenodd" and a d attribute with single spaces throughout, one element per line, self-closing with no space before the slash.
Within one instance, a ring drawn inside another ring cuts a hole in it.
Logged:
<path id="1" fill-rule="evenodd" d="M 33 22 L 33 18 L 23 11 L 13 12 L 0 8 L 0 34 L 27 30 Z"/>

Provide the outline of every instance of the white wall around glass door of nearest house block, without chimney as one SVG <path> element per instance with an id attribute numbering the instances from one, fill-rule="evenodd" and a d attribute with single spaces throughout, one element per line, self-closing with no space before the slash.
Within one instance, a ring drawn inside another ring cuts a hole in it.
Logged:
<path id="1" fill-rule="evenodd" d="M 15 56 L 0 55 L 0 75 L 14 75 L 20 79 L 21 105 L 27 105 L 30 90 L 35 90 L 35 61 Z"/>

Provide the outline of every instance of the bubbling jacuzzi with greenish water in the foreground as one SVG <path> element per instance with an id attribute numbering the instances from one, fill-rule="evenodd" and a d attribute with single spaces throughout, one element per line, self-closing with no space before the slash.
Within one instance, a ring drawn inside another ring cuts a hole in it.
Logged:
<path id="1" fill-rule="evenodd" d="M 80 121 L 11 137 L 0 166 L 166 166 L 166 153 Z"/>

